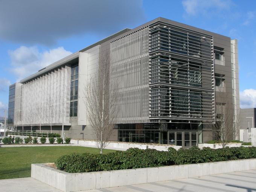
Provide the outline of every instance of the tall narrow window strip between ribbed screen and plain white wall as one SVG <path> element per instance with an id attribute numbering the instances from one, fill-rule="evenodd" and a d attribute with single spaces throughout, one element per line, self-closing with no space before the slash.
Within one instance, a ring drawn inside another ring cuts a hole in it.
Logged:
<path id="1" fill-rule="evenodd" d="M 70 117 L 77 117 L 78 106 L 78 66 L 71 68 Z"/>

